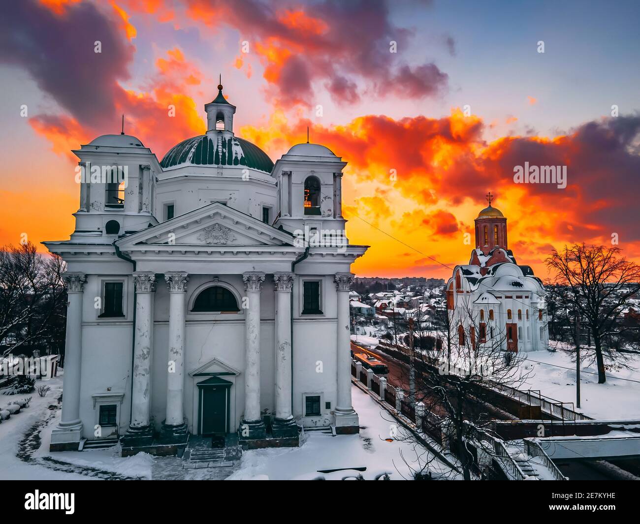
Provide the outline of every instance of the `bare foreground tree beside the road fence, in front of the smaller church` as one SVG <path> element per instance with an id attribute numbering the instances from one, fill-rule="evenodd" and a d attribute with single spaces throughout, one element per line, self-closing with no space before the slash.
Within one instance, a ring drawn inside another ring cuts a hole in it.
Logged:
<path id="1" fill-rule="evenodd" d="M 415 366 L 415 400 L 424 405 L 427 433 L 447 435 L 449 449 L 468 480 L 472 473 L 483 475 L 475 466 L 475 432 L 488 431 L 491 420 L 504 417 L 493 406 L 496 390 L 518 388 L 529 372 L 521 366 L 521 354 L 502 349 L 504 329 L 494 321 L 481 321 L 479 310 L 460 301 L 447 317 L 447 330 L 440 332 L 446 340 L 435 345 L 433 352 L 416 351 L 408 364 Z M 413 434 L 403 434 L 404 441 L 415 439 Z"/>

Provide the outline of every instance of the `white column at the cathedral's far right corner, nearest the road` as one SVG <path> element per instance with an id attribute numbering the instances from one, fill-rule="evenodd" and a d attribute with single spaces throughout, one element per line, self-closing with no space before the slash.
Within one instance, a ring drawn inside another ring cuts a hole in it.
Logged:
<path id="1" fill-rule="evenodd" d="M 336 273 L 337 289 L 337 340 L 336 381 L 337 404 L 335 406 L 336 433 L 358 433 L 358 415 L 351 406 L 351 331 L 349 330 L 349 289 L 353 273 Z M 360 377 L 357 377 L 358 379 Z"/>

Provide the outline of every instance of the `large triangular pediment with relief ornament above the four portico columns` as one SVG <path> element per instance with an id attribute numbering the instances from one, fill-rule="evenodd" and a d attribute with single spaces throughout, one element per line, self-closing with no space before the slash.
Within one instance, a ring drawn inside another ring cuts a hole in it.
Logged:
<path id="1" fill-rule="evenodd" d="M 205 205 L 184 215 L 118 240 L 123 250 L 143 246 L 286 246 L 292 235 L 265 224 L 220 202 Z"/>

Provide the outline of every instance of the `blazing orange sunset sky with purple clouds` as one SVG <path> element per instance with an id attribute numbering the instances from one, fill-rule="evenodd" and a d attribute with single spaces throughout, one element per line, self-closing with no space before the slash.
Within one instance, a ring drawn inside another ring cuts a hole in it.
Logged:
<path id="1" fill-rule="evenodd" d="M 371 245 L 358 276 L 450 276 L 445 266 L 468 262 L 465 233 L 487 191 L 516 260 L 541 278 L 552 248 L 611 245 L 612 234 L 640 261 L 637 1 L 0 9 L 0 244 L 67 239 L 79 203 L 70 150 L 120 132 L 124 113 L 127 134 L 161 159 L 205 131 L 221 74 L 236 134 L 273 161 L 308 126 L 310 141 L 348 162 L 348 237 Z M 567 166 L 566 188 L 515 184 L 525 162 Z"/>

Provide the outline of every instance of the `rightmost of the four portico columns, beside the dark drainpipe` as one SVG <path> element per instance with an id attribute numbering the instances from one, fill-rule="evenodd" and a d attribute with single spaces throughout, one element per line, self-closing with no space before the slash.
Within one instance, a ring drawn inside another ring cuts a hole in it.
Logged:
<path id="1" fill-rule="evenodd" d="M 291 421 L 291 289 L 296 275 L 275 273 L 276 298 L 276 419 Z M 298 430 L 296 429 L 296 434 Z"/>

